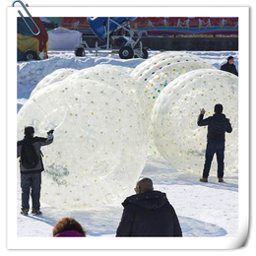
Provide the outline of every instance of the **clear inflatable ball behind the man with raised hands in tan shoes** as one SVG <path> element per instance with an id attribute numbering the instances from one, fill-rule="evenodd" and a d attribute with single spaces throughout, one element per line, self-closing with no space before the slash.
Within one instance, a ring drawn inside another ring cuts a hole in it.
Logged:
<path id="1" fill-rule="evenodd" d="M 237 96 L 237 77 L 214 69 L 190 71 L 168 84 L 160 93 L 152 113 L 154 139 L 164 159 L 181 171 L 201 175 L 207 126 L 199 127 L 197 119 L 201 108 L 206 109 L 206 118 L 214 114 L 217 103 L 222 103 L 233 128 L 232 133 L 225 134 L 224 171 L 230 175 L 237 173 Z M 213 163 L 213 175 L 217 175 L 215 171 L 217 167 Z"/>

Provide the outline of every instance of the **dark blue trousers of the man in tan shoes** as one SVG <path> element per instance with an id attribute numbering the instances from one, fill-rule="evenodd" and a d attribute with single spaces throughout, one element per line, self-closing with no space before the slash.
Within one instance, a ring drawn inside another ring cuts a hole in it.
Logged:
<path id="1" fill-rule="evenodd" d="M 203 172 L 204 178 L 207 178 L 209 176 L 212 160 L 215 154 L 217 156 L 218 162 L 218 177 L 224 177 L 224 142 L 208 141 L 206 148 L 205 166 Z"/>

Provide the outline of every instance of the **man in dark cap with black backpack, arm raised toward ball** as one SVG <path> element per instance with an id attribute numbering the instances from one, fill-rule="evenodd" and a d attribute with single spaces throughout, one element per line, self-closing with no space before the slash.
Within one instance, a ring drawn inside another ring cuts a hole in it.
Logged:
<path id="1" fill-rule="evenodd" d="M 40 148 L 53 142 L 53 131 L 47 132 L 47 138 L 33 137 L 32 126 L 25 128 L 25 137 L 17 142 L 17 158 L 20 158 L 21 187 L 22 187 L 22 211 L 21 214 L 28 216 L 30 211 L 30 192 L 32 190 L 32 215 L 41 215 L 40 212 L 40 189 L 41 171 L 43 163 Z"/>

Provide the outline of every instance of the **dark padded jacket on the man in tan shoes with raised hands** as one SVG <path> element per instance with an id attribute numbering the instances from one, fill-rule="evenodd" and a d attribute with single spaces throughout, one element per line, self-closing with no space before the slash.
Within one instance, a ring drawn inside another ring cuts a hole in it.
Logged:
<path id="1" fill-rule="evenodd" d="M 231 124 L 224 114 L 214 114 L 206 119 L 203 114 L 200 114 L 197 124 L 199 126 L 208 125 L 208 141 L 224 142 L 224 133 L 232 132 Z"/>

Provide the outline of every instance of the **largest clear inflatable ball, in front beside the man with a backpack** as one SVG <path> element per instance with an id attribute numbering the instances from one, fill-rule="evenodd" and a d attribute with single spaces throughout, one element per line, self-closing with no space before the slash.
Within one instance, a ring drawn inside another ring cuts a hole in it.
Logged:
<path id="1" fill-rule="evenodd" d="M 18 139 L 25 126 L 51 145 L 41 148 L 42 201 L 60 208 L 107 204 L 133 188 L 146 161 L 143 122 L 131 100 L 86 79 L 63 80 L 32 96 L 18 114 Z"/>

